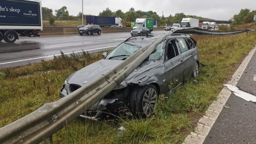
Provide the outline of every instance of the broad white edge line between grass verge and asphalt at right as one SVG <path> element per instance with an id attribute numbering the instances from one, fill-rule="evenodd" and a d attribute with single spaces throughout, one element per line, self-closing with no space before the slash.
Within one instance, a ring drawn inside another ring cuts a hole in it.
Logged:
<path id="1" fill-rule="evenodd" d="M 246 69 L 248 63 L 250 62 L 256 47 L 251 50 L 251 52 L 246 56 L 242 64 L 236 70 L 234 75 L 232 76 L 231 80 L 228 84 L 232 84 L 236 86 L 238 81 L 240 80 L 244 70 Z M 182 144 L 203 144 L 206 136 L 210 132 L 213 124 L 215 123 L 216 119 L 218 118 L 222 108 L 225 106 L 228 98 L 230 97 L 231 92 L 228 90 L 227 87 L 224 87 L 220 94 L 218 95 L 217 100 L 214 100 L 212 104 L 209 106 L 208 110 L 205 112 L 205 116 L 203 116 L 197 123 L 197 127 L 195 132 L 191 132 L 190 135 L 186 137 Z"/>

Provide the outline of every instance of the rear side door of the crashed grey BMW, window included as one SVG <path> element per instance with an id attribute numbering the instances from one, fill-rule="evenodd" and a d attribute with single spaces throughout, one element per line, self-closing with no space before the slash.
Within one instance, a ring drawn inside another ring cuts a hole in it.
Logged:
<path id="1" fill-rule="evenodd" d="M 191 49 L 190 44 L 186 41 L 186 38 L 176 38 L 178 40 L 178 45 L 183 57 L 184 63 L 184 78 L 188 78 L 192 74 L 194 67 L 194 51 Z"/>

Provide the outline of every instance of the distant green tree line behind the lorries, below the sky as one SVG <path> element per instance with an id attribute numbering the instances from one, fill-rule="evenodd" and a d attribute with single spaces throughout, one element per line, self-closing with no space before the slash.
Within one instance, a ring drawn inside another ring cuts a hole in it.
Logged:
<path id="1" fill-rule="evenodd" d="M 54 23 L 54 20 L 60 20 L 60 15 L 62 14 L 62 20 L 81 20 L 82 12 L 79 12 L 76 16 L 70 15 L 68 13 L 67 7 L 62 6 L 62 8 L 58 10 L 53 10 L 50 8 L 42 7 L 42 16 L 43 20 L 49 20 L 50 24 Z M 86 16 L 92 16 L 91 14 L 84 14 L 84 20 L 86 20 Z M 180 23 L 182 18 L 197 18 L 201 20 L 212 20 L 209 18 L 202 18 L 200 16 L 191 16 L 185 15 L 184 13 L 176 13 L 175 15 L 170 14 L 169 16 L 159 16 L 156 12 L 153 11 L 142 11 L 142 10 L 134 10 L 134 8 L 130 8 L 128 12 L 123 12 L 122 10 L 112 11 L 109 8 L 103 10 L 98 14 L 98 16 L 115 16 L 122 18 L 123 22 L 135 22 L 136 18 L 154 18 L 158 21 L 158 25 L 160 24 L 168 24 L 172 25 L 174 23 Z"/>

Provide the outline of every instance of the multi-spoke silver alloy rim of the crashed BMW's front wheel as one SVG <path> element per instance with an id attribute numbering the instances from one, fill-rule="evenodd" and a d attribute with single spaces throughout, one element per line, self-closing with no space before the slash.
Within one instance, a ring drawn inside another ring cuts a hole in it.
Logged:
<path id="1" fill-rule="evenodd" d="M 154 113 L 154 105 L 157 102 L 157 92 L 154 88 L 148 88 L 143 97 L 143 112 L 146 116 L 152 116 Z"/>

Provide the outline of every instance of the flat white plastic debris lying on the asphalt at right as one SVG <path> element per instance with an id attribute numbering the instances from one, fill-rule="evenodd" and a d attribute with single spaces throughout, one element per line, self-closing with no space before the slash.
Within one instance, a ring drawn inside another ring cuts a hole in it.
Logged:
<path id="1" fill-rule="evenodd" d="M 224 86 L 226 86 L 229 90 L 234 92 L 234 95 L 236 95 L 248 102 L 256 102 L 256 96 L 249 94 L 247 92 L 244 92 L 234 85 L 224 84 Z"/>

